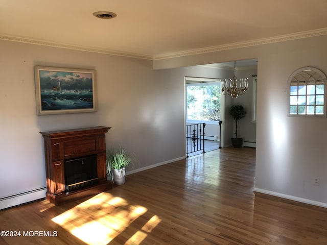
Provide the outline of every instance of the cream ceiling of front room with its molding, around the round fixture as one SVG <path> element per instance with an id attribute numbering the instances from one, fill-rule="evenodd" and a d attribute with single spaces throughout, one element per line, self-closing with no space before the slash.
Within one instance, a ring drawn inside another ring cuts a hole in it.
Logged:
<path id="1" fill-rule="evenodd" d="M 0 39 L 155 60 L 326 35 L 326 9 L 326 0 L 0 0 Z"/>

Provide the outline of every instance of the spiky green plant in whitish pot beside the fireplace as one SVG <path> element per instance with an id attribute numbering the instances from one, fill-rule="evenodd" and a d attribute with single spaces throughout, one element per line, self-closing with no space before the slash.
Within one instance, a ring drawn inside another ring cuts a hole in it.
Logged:
<path id="1" fill-rule="evenodd" d="M 107 155 L 107 178 L 111 179 L 116 185 L 123 185 L 126 182 L 126 167 L 133 164 L 133 157 L 124 148 L 118 151 L 108 151 Z"/>

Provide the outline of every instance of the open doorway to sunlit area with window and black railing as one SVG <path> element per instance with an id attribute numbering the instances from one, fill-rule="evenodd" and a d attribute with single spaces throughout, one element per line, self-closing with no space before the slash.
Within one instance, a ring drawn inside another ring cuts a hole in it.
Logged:
<path id="1" fill-rule="evenodd" d="M 221 92 L 223 79 L 185 77 L 185 128 L 190 125 L 205 124 L 204 127 L 204 149 L 191 153 L 192 155 L 213 151 L 222 147 L 223 124 L 219 124 L 224 118 L 224 96 Z M 185 132 L 185 155 L 190 156 L 190 135 Z M 202 144 L 199 141 L 195 144 Z M 189 153 L 189 154 L 187 154 Z"/>

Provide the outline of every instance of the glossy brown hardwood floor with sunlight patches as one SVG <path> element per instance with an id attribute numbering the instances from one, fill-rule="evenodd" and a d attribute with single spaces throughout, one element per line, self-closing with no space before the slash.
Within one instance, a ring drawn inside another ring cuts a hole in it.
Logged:
<path id="1" fill-rule="evenodd" d="M 254 195 L 254 165 L 255 149 L 224 148 L 78 202 L 2 210 L 0 230 L 20 236 L 0 244 L 327 244 L 327 209 Z"/>

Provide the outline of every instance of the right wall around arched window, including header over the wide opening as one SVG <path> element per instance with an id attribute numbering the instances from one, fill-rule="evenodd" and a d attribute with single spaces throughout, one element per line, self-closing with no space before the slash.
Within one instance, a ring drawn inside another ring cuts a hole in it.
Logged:
<path id="1" fill-rule="evenodd" d="M 314 66 L 327 74 L 327 36 L 154 61 L 154 67 L 258 58 L 255 190 L 327 207 L 327 118 L 288 117 L 287 81 Z M 313 184 L 320 178 L 320 185 Z"/>

